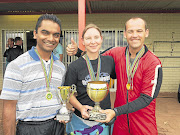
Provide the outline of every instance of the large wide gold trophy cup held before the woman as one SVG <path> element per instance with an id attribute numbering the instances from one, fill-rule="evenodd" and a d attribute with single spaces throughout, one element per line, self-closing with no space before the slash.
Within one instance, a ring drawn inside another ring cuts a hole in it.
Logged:
<path id="1" fill-rule="evenodd" d="M 109 84 L 103 81 L 91 81 L 87 84 L 87 94 L 95 102 L 92 110 L 89 110 L 89 120 L 105 120 L 106 114 L 100 113 L 100 101 L 102 101 L 109 92 Z"/>

